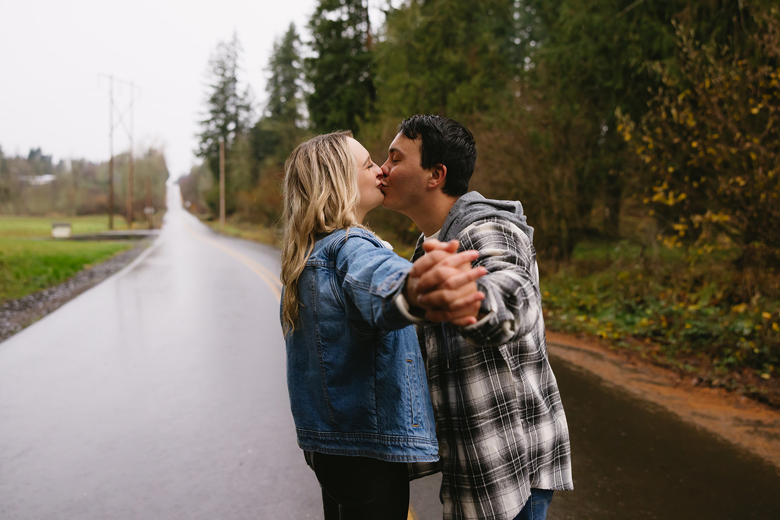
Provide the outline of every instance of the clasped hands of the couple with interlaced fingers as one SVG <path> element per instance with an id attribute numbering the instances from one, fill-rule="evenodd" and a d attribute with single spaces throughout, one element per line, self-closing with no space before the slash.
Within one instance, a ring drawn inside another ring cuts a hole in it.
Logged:
<path id="1" fill-rule="evenodd" d="M 417 313 L 430 321 L 449 321 L 463 327 L 477 323 L 484 293 L 475 280 L 488 274 L 484 267 L 471 267 L 479 252 L 457 253 L 458 241 L 423 243 L 425 254 L 414 262 L 406 279 L 404 296 Z"/>

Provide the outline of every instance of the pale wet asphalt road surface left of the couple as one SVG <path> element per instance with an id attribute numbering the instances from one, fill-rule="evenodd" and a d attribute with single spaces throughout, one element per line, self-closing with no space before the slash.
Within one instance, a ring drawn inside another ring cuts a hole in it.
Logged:
<path id="1" fill-rule="evenodd" d="M 181 210 L 136 263 L 0 343 L 0 518 L 321 518 L 275 249 Z"/>

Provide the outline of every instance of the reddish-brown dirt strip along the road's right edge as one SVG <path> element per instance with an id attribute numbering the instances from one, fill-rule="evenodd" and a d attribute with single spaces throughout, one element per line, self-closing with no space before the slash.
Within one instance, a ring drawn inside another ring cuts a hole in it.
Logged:
<path id="1" fill-rule="evenodd" d="M 597 341 L 548 331 L 547 342 L 550 356 L 597 374 L 604 384 L 661 405 L 687 423 L 764 458 L 780 471 L 780 411 L 723 388 L 695 386 L 693 380 Z"/>

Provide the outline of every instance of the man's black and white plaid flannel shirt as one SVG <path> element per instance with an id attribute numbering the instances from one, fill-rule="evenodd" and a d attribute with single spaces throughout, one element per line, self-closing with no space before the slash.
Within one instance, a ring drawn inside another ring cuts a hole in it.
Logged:
<path id="1" fill-rule="evenodd" d="M 511 520 L 530 488 L 572 490 L 569 432 L 548 363 L 536 251 L 511 221 L 485 218 L 456 237 L 486 316 L 469 327 L 418 325 L 434 406 L 444 518 Z M 423 237 L 416 260 L 423 254 Z"/>

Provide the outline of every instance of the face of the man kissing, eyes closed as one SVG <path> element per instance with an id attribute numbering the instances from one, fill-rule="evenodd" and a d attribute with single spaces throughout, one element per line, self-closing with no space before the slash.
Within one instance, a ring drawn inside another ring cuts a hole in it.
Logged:
<path id="1" fill-rule="evenodd" d="M 431 172 L 420 166 L 421 145 L 421 140 L 410 140 L 402 133 L 390 143 L 388 160 L 382 164 L 382 206 L 388 210 L 410 216 L 410 210 L 414 213 L 424 201 Z"/>

